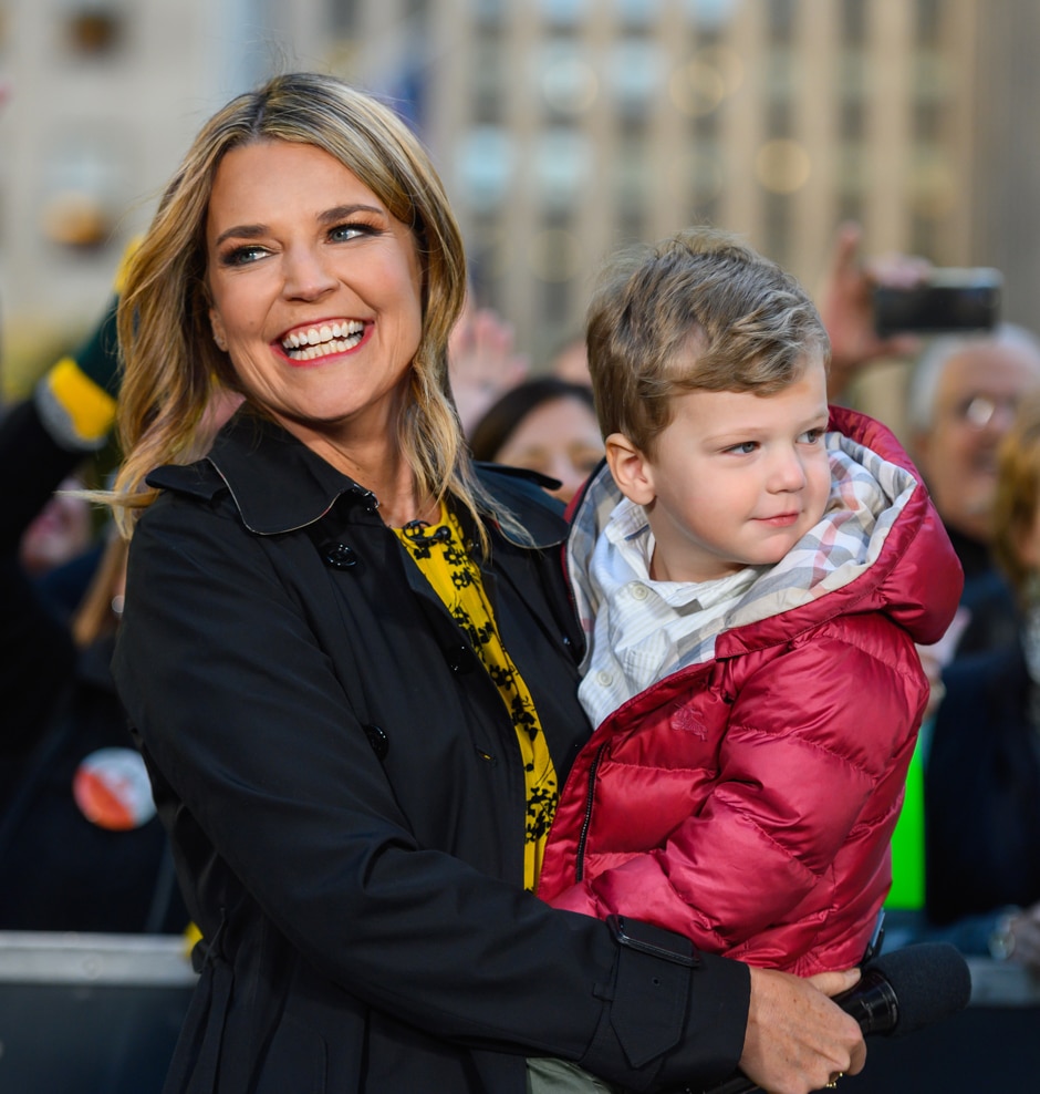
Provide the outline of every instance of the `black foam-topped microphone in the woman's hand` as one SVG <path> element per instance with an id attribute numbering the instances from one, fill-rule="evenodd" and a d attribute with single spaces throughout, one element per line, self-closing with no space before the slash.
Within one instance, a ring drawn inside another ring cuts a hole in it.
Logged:
<path id="1" fill-rule="evenodd" d="M 968 1005 L 971 973 L 948 942 L 917 942 L 864 966 L 859 982 L 834 1002 L 859 1023 L 864 1036 L 903 1038 Z M 686 1094 L 690 1094 L 687 1087 Z M 748 1094 L 761 1090 L 737 1072 L 704 1094 Z"/>

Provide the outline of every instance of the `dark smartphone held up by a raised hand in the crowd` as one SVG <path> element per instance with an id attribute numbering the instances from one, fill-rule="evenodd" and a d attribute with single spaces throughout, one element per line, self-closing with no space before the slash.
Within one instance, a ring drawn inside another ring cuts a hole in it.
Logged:
<path id="1" fill-rule="evenodd" d="M 874 329 L 892 334 L 942 334 L 991 330 L 1000 318 L 999 270 L 979 266 L 937 268 L 909 288 L 877 285 Z"/>

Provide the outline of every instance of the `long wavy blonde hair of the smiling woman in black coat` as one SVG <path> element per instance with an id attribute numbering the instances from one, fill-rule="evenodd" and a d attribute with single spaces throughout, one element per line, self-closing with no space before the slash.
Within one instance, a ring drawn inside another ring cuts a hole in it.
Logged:
<path id="1" fill-rule="evenodd" d="M 230 359 L 211 336 L 206 220 L 222 157 L 269 141 L 327 152 L 412 230 L 423 270 L 423 332 L 397 440 L 420 494 L 451 494 L 475 519 L 481 510 L 495 514 L 472 476 L 448 384 L 448 334 L 462 307 L 466 261 L 440 179 L 388 106 L 333 76 L 292 73 L 232 100 L 202 127 L 129 260 L 118 314 L 124 379 L 117 429 L 126 455 L 108 499 L 121 531 L 128 537 L 155 498 L 145 485 L 149 472 L 208 451 L 215 426 L 206 411 L 215 392 L 239 390 Z M 495 515 L 509 523 L 508 515 Z"/>

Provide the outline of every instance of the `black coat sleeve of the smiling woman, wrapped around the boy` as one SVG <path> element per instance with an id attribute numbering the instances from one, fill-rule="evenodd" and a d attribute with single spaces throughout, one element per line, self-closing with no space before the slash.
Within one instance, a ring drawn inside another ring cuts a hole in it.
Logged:
<path id="1" fill-rule="evenodd" d="M 746 967 L 646 964 L 605 923 L 417 843 L 299 594 L 216 507 L 166 496 L 139 523 L 114 668 L 175 843 L 184 825 L 212 848 L 180 848 L 204 933 L 216 887 L 240 883 L 331 983 L 433 1036 L 635 1090 L 732 1070 Z"/>

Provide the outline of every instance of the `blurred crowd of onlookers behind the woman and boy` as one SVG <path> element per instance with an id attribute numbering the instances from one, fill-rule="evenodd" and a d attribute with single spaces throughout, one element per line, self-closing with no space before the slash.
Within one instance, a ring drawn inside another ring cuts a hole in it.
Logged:
<path id="1" fill-rule="evenodd" d="M 880 336 L 873 289 L 928 274 L 919 258 L 864 258 L 845 225 L 818 299 L 832 402 L 877 362 L 907 362 L 905 440 L 966 577 L 954 627 L 921 651 L 932 703 L 896 836 L 892 939 L 1040 970 L 1040 339 L 1007 323 Z M 125 548 L 90 488 L 112 458 L 115 299 L 0 419 L 0 454 L 20 468 L 0 507 L 4 930 L 188 927 L 108 673 Z M 531 362 L 509 322 L 470 301 L 450 374 L 474 456 L 570 502 L 604 453 L 582 334 Z"/>

